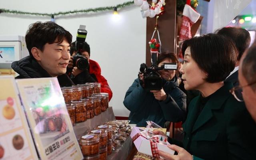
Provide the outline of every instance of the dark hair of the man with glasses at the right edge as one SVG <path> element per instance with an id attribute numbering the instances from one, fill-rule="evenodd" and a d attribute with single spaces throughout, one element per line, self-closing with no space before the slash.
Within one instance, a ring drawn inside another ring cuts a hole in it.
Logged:
<path id="1" fill-rule="evenodd" d="M 248 49 L 243 63 L 242 63 L 242 74 L 246 79 L 247 83 L 256 82 L 256 43 Z M 252 89 L 256 89 L 256 84 L 251 85 Z"/>

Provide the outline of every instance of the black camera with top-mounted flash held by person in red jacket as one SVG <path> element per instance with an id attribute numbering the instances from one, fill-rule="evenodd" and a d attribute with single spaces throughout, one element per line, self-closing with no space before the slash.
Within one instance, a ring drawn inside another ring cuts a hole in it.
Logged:
<path id="1" fill-rule="evenodd" d="M 86 26 L 80 25 L 77 30 L 76 35 L 76 55 L 73 56 L 74 66 L 78 67 L 80 70 L 86 70 L 89 67 L 89 63 L 86 57 L 82 56 L 82 51 L 84 50 L 85 38 L 87 35 L 87 31 L 85 30 Z"/>

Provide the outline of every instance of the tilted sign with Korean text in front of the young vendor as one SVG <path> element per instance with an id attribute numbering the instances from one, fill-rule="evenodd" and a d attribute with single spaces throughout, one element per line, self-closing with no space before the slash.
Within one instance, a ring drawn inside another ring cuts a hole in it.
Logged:
<path id="1" fill-rule="evenodd" d="M 83 159 L 58 79 L 18 79 L 16 83 L 40 158 Z"/>

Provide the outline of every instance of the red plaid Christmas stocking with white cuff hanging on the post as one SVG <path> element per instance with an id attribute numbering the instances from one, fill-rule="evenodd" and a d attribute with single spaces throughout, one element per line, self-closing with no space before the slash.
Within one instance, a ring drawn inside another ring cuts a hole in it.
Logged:
<path id="1" fill-rule="evenodd" d="M 190 6 L 190 4 L 191 4 L 191 0 L 187 0 L 184 10 L 183 10 L 183 13 L 182 13 L 182 15 L 183 15 L 182 25 L 181 25 L 181 29 L 180 29 L 180 35 L 179 35 L 180 42 L 192 38 L 191 26 L 194 23 L 196 23 L 196 21 L 200 18 L 200 14 L 198 12 L 196 12 L 196 10 L 194 8 L 192 8 Z M 181 49 L 180 49 L 179 57 L 183 59 Z"/>

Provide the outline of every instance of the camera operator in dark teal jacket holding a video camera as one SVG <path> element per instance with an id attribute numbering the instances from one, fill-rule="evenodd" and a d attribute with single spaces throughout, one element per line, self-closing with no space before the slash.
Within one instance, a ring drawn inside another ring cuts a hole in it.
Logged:
<path id="1" fill-rule="evenodd" d="M 178 63 L 173 53 L 161 53 L 158 56 L 158 67 L 163 63 Z M 144 77 L 139 75 L 124 98 L 124 106 L 130 110 L 129 120 L 137 126 L 146 126 L 152 120 L 164 126 L 166 121 L 180 122 L 186 117 L 186 95 L 178 88 L 176 71 L 159 71 L 163 87 L 157 91 L 146 91 Z"/>

